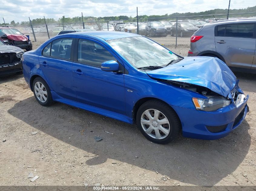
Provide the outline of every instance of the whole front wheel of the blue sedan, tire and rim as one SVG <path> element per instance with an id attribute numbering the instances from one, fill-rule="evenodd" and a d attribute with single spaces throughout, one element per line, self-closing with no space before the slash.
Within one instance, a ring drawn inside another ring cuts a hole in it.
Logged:
<path id="1" fill-rule="evenodd" d="M 181 123 L 175 111 L 159 100 L 149 100 L 141 105 L 137 112 L 137 126 L 150 141 L 167 144 L 173 141 L 181 129 Z"/>

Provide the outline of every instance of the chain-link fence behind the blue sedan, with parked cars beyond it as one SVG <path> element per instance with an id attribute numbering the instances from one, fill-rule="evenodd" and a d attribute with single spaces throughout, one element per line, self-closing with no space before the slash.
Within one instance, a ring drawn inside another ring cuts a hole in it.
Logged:
<path id="1" fill-rule="evenodd" d="M 253 15 L 256 18 L 256 12 L 253 13 L 234 13 L 229 15 L 232 18 L 248 18 Z M 137 17 L 138 18 L 138 17 Z M 190 37 L 195 31 L 203 27 L 204 24 L 213 21 L 225 20 L 227 14 L 215 15 L 197 15 L 183 17 L 166 17 L 166 18 L 144 18 L 129 19 L 120 21 L 95 21 L 81 23 L 64 23 L 64 24 L 39 24 L 27 26 L 15 26 L 17 30 L 25 35 L 29 35 L 33 44 L 40 45 L 51 37 L 56 36 L 59 32 L 75 31 L 121 31 L 128 33 L 138 33 L 151 38 L 152 40 L 166 46 L 169 49 L 175 49 L 176 53 L 185 56 L 189 49 Z M 36 43 L 35 43 L 36 42 Z M 37 46 L 34 46 L 34 49 Z"/>

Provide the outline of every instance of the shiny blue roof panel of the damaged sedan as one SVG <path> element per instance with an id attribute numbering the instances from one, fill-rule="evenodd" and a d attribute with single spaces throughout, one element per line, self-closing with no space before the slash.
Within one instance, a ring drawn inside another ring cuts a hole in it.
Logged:
<path id="1" fill-rule="evenodd" d="M 140 37 L 138 34 L 134 33 L 124 33 L 118 31 L 85 31 L 85 32 L 77 32 L 77 33 L 68 33 L 63 34 L 63 36 L 81 36 L 81 37 L 98 37 L 103 40 L 114 40 L 120 38 L 128 38 L 128 37 Z M 62 35 L 61 35 L 62 36 Z"/>

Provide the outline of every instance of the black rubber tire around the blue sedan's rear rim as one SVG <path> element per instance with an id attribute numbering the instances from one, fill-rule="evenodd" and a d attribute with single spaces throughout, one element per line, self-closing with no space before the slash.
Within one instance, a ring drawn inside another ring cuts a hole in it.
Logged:
<path id="1" fill-rule="evenodd" d="M 40 82 L 44 85 L 45 87 L 45 90 L 47 92 L 47 100 L 45 102 L 42 102 L 38 99 L 38 97 L 36 96 L 36 90 L 35 90 L 35 84 L 37 82 Z M 36 77 L 33 81 L 33 85 L 32 85 L 32 88 L 33 88 L 33 93 L 34 93 L 34 96 L 35 96 L 35 99 L 38 101 L 38 103 L 40 103 L 42 106 L 50 106 L 54 103 L 54 101 L 52 100 L 52 94 L 51 94 L 51 91 L 50 91 L 50 88 L 48 86 L 48 84 L 46 83 L 46 81 L 41 78 L 41 77 Z"/>

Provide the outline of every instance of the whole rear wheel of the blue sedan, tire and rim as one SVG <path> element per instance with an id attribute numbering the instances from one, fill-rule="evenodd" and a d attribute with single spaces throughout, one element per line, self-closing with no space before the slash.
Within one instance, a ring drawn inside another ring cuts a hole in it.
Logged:
<path id="1" fill-rule="evenodd" d="M 40 103 L 42 106 L 49 106 L 52 105 L 52 94 L 50 91 L 49 86 L 44 81 L 43 78 L 37 77 L 33 81 L 33 93 L 35 99 Z"/>

